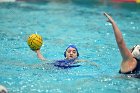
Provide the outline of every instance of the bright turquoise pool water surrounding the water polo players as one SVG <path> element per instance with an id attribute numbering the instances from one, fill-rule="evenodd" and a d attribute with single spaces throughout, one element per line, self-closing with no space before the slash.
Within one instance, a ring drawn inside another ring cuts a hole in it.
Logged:
<path id="1" fill-rule="evenodd" d="M 140 93 L 139 79 L 118 74 L 121 56 L 103 16 L 113 16 L 131 48 L 140 43 L 140 5 L 89 1 L 0 3 L 0 84 L 9 93 Z M 27 45 L 33 33 L 43 37 L 49 60 L 63 59 L 75 44 L 88 62 L 72 69 L 45 64 Z"/>

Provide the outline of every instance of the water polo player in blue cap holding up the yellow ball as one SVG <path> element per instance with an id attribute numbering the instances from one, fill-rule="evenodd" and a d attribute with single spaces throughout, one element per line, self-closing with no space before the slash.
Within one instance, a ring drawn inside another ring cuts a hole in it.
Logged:
<path id="1" fill-rule="evenodd" d="M 40 49 L 36 50 L 37 56 L 41 60 L 46 60 L 43 55 L 40 53 Z M 61 68 L 71 68 L 71 67 L 79 67 L 77 62 L 80 62 L 78 59 L 79 52 L 75 45 L 69 45 L 65 52 L 64 52 L 65 59 L 63 60 L 56 60 L 53 64 L 54 66 L 61 67 Z M 81 60 L 83 61 L 83 60 Z"/>

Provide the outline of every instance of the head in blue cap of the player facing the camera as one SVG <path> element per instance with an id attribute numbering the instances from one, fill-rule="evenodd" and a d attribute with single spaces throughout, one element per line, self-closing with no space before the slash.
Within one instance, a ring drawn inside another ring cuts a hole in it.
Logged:
<path id="1" fill-rule="evenodd" d="M 76 48 L 75 45 L 69 45 L 66 48 L 66 51 L 64 52 L 64 56 L 66 59 L 78 58 L 79 56 L 78 49 Z"/>

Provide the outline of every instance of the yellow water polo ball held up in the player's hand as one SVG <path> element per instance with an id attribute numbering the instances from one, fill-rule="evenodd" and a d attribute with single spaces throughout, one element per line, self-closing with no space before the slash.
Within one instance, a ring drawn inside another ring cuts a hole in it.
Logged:
<path id="1" fill-rule="evenodd" d="M 27 43 L 31 50 L 35 51 L 41 48 L 43 44 L 42 37 L 38 34 L 32 34 L 28 37 Z"/>

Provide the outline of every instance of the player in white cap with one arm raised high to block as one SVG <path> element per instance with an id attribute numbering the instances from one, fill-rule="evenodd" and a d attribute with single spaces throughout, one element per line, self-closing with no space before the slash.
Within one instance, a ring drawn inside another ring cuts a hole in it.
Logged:
<path id="1" fill-rule="evenodd" d="M 113 18 L 107 13 L 104 13 L 104 15 L 108 18 L 108 22 L 112 24 L 116 42 L 122 56 L 122 63 L 119 72 L 130 77 L 140 78 L 140 45 L 136 45 L 129 50 L 126 47 L 121 31 Z"/>

